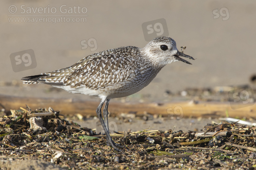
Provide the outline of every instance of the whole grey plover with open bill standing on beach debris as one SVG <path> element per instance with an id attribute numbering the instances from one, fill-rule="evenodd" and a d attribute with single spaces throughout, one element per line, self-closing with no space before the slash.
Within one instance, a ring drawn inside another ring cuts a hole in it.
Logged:
<path id="1" fill-rule="evenodd" d="M 74 65 L 56 71 L 24 77 L 25 84 L 43 83 L 68 92 L 96 96 L 101 99 L 97 116 L 106 134 L 107 145 L 119 150 L 109 134 L 108 105 L 110 99 L 132 95 L 147 86 L 167 64 L 195 60 L 179 52 L 170 37 L 157 37 L 144 48 L 120 47 L 89 55 Z M 103 117 L 101 108 L 103 109 Z"/>

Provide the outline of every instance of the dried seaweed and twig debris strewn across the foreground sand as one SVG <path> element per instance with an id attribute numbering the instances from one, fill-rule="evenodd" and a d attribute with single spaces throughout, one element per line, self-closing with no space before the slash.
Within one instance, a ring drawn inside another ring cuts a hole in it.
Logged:
<path id="1" fill-rule="evenodd" d="M 38 159 L 67 169 L 256 167 L 256 127 L 236 122 L 208 124 L 203 133 L 118 132 L 111 134 L 122 150 L 117 152 L 106 145 L 104 135 L 61 118 L 52 108 L 11 113 L 0 118 L 0 160 Z"/>

